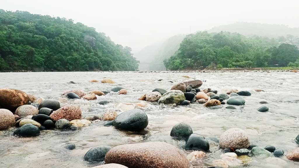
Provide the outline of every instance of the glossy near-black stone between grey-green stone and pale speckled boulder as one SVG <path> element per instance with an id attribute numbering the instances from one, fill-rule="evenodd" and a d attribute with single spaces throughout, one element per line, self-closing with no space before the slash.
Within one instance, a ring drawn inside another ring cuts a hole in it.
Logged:
<path id="1" fill-rule="evenodd" d="M 210 144 L 205 137 L 199 134 L 191 134 L 187 140 L 185 145 L 186 150 L 202 150 L 202 151 L 209 151 Z"/>

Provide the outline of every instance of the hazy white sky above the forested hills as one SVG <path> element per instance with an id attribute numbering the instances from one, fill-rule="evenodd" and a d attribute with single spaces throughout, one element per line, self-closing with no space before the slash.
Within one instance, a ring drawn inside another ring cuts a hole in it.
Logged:
<path id="1" fill-rule="evenodd" d="M 299 27 L 297 0 L 1 0 L 4 10 L 73 19 L 138 51 L 167 37 L 235 22 Z"/>

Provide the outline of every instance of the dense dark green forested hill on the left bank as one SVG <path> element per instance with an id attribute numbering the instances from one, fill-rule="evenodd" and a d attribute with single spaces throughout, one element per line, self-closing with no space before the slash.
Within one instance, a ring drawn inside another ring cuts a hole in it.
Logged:
<path id="1" fill-rule="evenodd" d="M 135 71 L 131 48 L 71 19 L 0 9 L 0 71 Z"/>

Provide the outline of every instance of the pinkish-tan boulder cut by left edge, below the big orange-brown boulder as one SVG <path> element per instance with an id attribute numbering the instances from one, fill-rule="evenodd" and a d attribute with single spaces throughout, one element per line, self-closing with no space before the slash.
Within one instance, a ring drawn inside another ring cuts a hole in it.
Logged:
<path id="1" fill-rule="evenodd" d="M 0 109 L 0 130 L 7 129 L 15 123 L 15 117 L 12 112 L 7 109 Z"/>

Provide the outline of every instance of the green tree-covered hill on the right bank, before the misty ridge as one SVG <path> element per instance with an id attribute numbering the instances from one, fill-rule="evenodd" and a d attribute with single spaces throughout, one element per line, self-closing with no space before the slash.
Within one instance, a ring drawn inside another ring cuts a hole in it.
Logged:
<path id="1" fill-rule="evenodd" d="M 218 67 L 287 66 L 299 58 L 298 48 L 290 44 L 279 47 L 275 39 L 239 33 L 198 32 L 188 35 L 179 50 L 164 65 L 170 70 L 200 69 L 213 62 Z"/>

